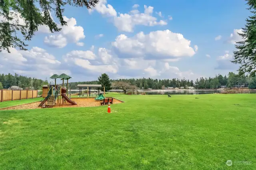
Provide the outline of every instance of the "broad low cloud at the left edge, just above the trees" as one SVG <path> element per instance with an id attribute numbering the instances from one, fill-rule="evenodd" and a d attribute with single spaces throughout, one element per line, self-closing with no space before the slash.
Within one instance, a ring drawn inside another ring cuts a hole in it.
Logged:
<path id="1" fill-rule="evenodd" d="M 32 47 L 28 51 L 10 48 L 10 51 L 11 53 L 5 50 L 0 53 L 0 63 L 3 63 L 0 68 L 2 73 L 18 73 L 41 79 L 52 73 L 70 73 L 69 70 L 60 67 L 60 61 L 40 47 Z"/>

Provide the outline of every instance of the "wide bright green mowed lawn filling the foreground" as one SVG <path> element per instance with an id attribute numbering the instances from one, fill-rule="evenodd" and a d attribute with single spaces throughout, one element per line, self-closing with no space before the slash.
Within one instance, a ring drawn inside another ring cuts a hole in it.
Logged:
<path id="1" fill-rule="evenodd" d="M 255 94 L 108 95 L 110 114 L 0 111 L 0 169 L 256 169 Z"/>

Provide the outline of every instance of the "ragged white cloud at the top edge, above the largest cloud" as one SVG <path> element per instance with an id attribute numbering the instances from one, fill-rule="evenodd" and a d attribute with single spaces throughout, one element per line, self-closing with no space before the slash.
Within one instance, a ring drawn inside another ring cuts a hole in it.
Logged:
<path id="1" fill-rule="evenodd" d="M 133 32 L 134 27 L 137 25 L 167 25 L 167 22 L 165 22 L 164 20 L 160 20 L 158 22 L 157 18 L 152 16 L 154 7 L 147 7 L 146 5 L 144 5 L 144 13 L 140 13 L 138 10 L 136 10 L 137 7 L 138 6 L 135 5 L 135 10 L 131 10 L 130 14 L 117 14 L 116 10 L 110 4 L 107 4 L 106 0 L 100 0 L 100 2 L 96 5 L 94 9 L 89 10 L 89 13 L 96 10 L 102 15 L 112 17 L 114 26 L 116 26 L 119 31 L 124 32 Z"/>

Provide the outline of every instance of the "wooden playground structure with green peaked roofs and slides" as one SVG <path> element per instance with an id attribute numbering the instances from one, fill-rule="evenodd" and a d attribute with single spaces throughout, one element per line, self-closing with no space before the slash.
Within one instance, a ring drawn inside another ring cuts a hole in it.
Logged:
<path id="1" fill-rule="evenodd" d="M 62 86 L 59 86 L 56 84 L 56 79 L 62 79 Z M 71 94 L 69 94 L 70 97 L 68 97 L 68 79 L 71 79 L 72 77 L 61 74 L 61 75 L 52 75 L 50 79 L 54 79 L 55 83 L 53 81 L 50 82 L 50 85 L 45 85 L 43 87 L 43 93 L 42 97 L 45 97 L 41 100 L 41 103 L 39 107 L 46 108 L 46 107 L 54 107 L 56 105 L 56 100 L 59 105 L 63 105 L 64 103 L 68 102 L 72 105 L 76 105 L 76 102 L 70 100 Z M 64 87 L 64 80 L 67 80 L 67 87 Z M 46 95 L 47 91 L 47 95 Z M 62 100 L 61 100 L 62 99 Z M 62 102 L 61 102 L 62 101 Z"/>

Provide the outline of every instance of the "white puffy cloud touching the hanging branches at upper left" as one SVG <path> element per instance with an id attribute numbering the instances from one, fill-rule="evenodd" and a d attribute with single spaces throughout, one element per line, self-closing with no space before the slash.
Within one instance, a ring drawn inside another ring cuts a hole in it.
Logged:
<path id="1" fill-rule="evenodd" d="M 84 44 L 79 41 L 85 38 L 84 28 L 76 26 L 75 18 L 67 18 L 66 16 L 63 18 L 67 22 L 67 26 L 61 27 L 59 25 L 62 30 L 56 34 L 46 36 L 44 43 L 58 48 L 63 48 L 68 43 L 76 43 L 78 46 L 83 46 Z"/>

